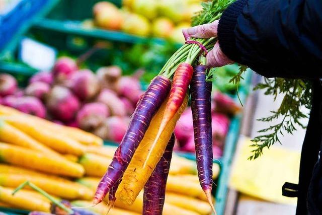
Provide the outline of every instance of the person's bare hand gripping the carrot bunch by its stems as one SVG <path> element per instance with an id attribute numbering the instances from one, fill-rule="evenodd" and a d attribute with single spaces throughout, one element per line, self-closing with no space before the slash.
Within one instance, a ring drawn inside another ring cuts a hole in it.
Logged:
<path id="1" fill-rule="evenodd" d="M 219 23 L 219 20 L 216 20 L 212 23 L 183 29 L 182 32 L 186 40 L 189 40 L 190 37 L 194 37 L 194 38 L 217 37 L 218 23 Z M 223 65 L 233 63 L 233 61 L 229 59 L 222 52 L 218 41 L 216 42 L 214 48 L 208 52 L 206 59 L 207 59 L 207 65 L 210 67 L 220 67 Z"/>

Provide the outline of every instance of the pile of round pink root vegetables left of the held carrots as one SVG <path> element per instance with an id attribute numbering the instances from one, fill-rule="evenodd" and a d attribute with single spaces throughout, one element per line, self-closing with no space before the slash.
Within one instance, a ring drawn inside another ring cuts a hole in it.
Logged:
<path id="1" fill-rule="evenodd" d="M 0 103 L 119 142 L 142 94 L 136 75 L 122 76 L 115 65 L 93 73 L 61 57 L 51 71 L 31 77 L 25 89 L 13 76 L 0 74 Z"/>

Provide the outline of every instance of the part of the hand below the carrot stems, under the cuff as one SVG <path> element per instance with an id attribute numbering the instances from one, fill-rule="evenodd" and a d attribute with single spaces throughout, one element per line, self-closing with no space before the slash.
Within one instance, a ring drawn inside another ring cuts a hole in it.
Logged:
<path id="1" fill-rule="evenodd" d="M 210 67 L 220 67 L 223 65 L 231 64 L 233 61 L 229 59 L 221 50 L 219 42 L 217 41 L 214 48 L 208 52 L 207 65 Z"/>

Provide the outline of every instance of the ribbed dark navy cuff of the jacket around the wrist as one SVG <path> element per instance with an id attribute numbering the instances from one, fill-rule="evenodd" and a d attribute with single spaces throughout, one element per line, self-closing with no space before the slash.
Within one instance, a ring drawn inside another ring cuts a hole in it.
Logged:
<path id="1" fill-rule="evenodd" d="M 218 41 L 222 52 L 230 59 L 238 61 L 240 56 L 236 47 L 234 29 L 238 16 L 243 12 L 248 0 L 237 0 L 221 15 L 218 24 Z"/>

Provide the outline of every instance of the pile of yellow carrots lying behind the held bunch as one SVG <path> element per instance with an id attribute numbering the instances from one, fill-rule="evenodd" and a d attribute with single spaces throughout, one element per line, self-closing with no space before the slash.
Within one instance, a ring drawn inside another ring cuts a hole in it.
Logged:
<path id="1" fill-rule="evenodd" d="M 31 189 L 11 195 L 25 181 L 74 206 L 90 206 L 115 150 L 94 134 L 0 105 L 0 206 L 49 212 L 50 201 Z M 214 178 L 218 172 L 214 165 Z M 173 156 L 166 190 L 163 214 L 211 213 L 193 161 Z M 116 200 L 109 214 L 142 213 L 142 195 L 131 206 Z M 109 208 L 104 201 L 89 209 L 105 214 Z"/>

